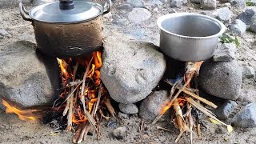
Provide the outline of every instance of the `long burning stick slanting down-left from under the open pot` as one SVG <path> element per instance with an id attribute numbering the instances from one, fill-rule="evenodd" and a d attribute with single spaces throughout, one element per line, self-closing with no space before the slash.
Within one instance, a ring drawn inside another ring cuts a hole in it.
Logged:
<path id="1" fill-rule="evenodd" d="M 191 72 L 190 75 L 194 75 L 195 71 Z M 177 94 L 175 94 L 174 98 L 171 99 L 171 101 L 169 102 L 168 106 L 166 107 L 166 110 L 169 110 L 170 107 L 172 106 L 172 103 L 174 102 L 174 100 L 176 98 L 178 98 L 178 95 L 181 94 L 182 90 L 184 90 L 186 88 L 186 86 L 190 83 L 192 79 L 192 76 L 190 76 L 190 78 L 188 78 L 188 80 L 186 81 L 186 83 L 182 86 L 182 88 L 180 90 L 178 90 Z M 154 125 L 156 122 L 158 122 L 158 120 L 160 118 L 162 118 L 162 115 L 166 113 L 166 110 L 163 111 L 161 114 L 158 115 L 157 118 L 154 119 L 154 121 L 152 122 L 152 124 Z"/>

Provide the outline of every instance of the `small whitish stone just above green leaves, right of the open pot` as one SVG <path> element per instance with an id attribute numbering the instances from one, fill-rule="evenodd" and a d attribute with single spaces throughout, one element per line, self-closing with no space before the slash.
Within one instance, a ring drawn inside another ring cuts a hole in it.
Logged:
<path id="1" fill-rule="evenodd" d="M 229 28 L 234 34 L 239 36 L 246 32 L 246 24 L 242 22 L 240 19 L 234 20 L 234 22 L 231 23 Z"/>

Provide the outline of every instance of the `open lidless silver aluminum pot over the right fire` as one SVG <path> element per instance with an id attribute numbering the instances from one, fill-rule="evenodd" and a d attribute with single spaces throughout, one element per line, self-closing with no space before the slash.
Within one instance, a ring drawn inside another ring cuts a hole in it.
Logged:
<path id="1" fill-rule="evenodd" d="M 202 14 L 174 13 L 158 18 L 160 49 L 170 58 L 197 62 L 211 58 L 218 37 L 226 26 L 215 18 Z"/>

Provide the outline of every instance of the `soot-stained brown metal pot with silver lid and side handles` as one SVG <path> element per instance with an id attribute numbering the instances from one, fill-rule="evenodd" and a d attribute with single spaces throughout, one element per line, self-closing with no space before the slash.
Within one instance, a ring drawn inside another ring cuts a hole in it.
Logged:
<path id="1" fill-rule="evenodd" d="M 110 11 L 111 0 L 105 6 L 94 2 L 60 0 L 25 10 L 22 18 L 32 22 L 38 49 L 58 58 L 90 54 L 102 47 L 102 14 Z"/>

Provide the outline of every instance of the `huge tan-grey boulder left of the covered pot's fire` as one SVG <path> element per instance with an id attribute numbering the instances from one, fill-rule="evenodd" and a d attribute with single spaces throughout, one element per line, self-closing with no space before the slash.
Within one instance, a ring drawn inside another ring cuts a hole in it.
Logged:
<path id="1" fill-rule="evenodd" d="M 40 54 L 33 43 L 14 42 L 0 49 L 0 99 L 22 108 L 47 105 L 58 96 L 58 86 L 56 59 Z"/>

